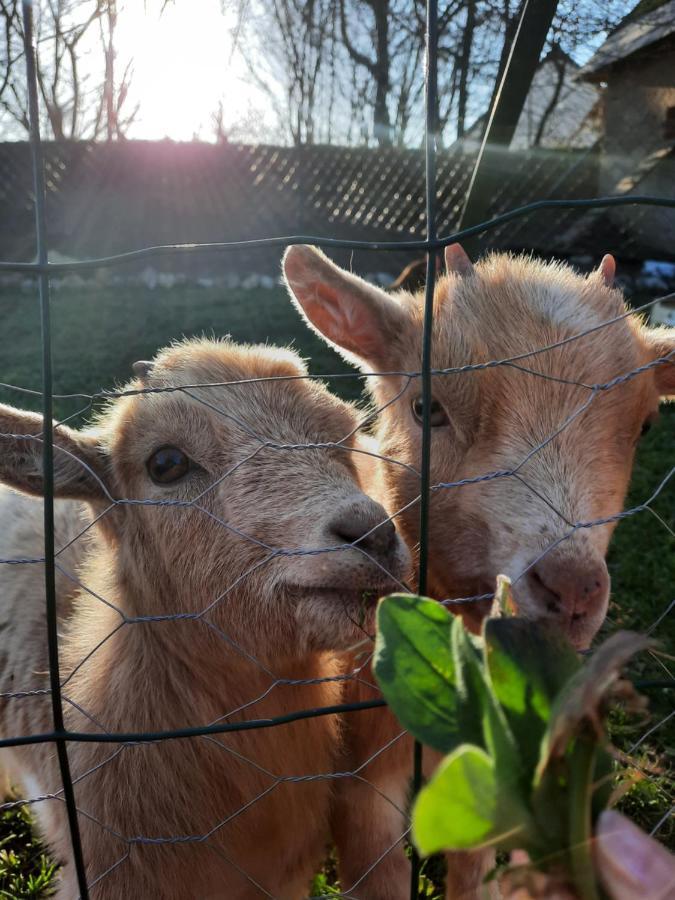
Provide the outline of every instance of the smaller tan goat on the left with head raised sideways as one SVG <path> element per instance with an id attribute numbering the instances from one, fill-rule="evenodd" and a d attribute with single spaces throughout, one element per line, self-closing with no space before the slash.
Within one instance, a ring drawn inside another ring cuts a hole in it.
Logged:
<path id="1" fill-rule="evenodd" d="M 130 385 L 160 390 L 116 399 L 94 430 L 55 429 L 56 495 L 100 516 L 76 573 L 83 586 L 59 584 L 68 728 L 156 731 L 340 702 L 334 651 L 372 629 L 364 591 L 389 590 L 409 556 L 356 483 L 353 409 L 304 372 L 290 351 L 186 342 Z M 204 383 L 215 386 L 183 389 Z M 0 407 L 0 480 L 24 494 L 43 490 L 41 442 L 22 437 L 41 428 L 39 416 Z M 61 545 L 77 532 L 64 502 Z M 40 557 L 42 504 L 3 489 L 0 507 L 0 558 Z M 0 564 L 3 737 L 52 728 L 37 568 Z M 304 896 L 328 840 L 333 782 L 321 776 L 339 741 L 337 718 L 324 716 L 210 738 L 70 743 L 92 898 Z M 54 748 L 3 754 L 29 795 L 47 798 L 33 808 L 65 863 L 57 896 L 72 900 Z"/>

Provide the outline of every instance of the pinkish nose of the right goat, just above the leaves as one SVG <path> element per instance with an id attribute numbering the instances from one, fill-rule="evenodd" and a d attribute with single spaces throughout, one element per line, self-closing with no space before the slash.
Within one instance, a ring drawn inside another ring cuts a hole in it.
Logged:
<path id="1" fill-rule="evenodd" d="M 578 618 L 603 602 L 609 573 L 603 559 L 573 560 L 545 556 L 528 572 L 530 588 L 551 613 Z"/>

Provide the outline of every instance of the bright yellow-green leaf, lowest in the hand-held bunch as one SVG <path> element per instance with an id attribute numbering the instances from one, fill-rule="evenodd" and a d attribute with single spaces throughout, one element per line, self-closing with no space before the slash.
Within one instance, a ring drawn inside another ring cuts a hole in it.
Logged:
<path id="1" fill-rule="evenodd" d="M 463 744 L 443 760 L 418 794 L 412 839 L 425 856 L 495 844 L 523 844 L 529 817 L 498 781 L 493 761 L 479 747 Z"/>

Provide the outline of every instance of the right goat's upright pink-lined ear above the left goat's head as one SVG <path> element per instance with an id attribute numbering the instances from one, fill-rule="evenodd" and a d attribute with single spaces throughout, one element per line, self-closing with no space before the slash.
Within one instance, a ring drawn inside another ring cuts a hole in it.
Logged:
<path id="1" fill-rule="evenodd" d="M 392 344 L 408 321 L 396 300 L 316 247 L 289 247 L 283 266 L 293 300 L 314 331 L 364 370 L 395 364 Z"/>

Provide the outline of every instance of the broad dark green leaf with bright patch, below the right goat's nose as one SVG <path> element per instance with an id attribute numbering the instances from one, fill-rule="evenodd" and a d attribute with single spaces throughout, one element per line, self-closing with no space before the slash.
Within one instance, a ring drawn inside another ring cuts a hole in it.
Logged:
<path id="1" fill-rule="evenodd" d="M 572 645 L 559 632 L 527 619 L 487 619 L 486 668 L 531 782 L 552 704 L 580 668 Z"/>

